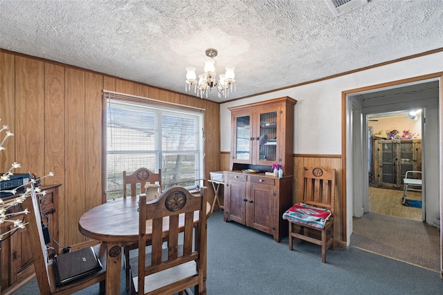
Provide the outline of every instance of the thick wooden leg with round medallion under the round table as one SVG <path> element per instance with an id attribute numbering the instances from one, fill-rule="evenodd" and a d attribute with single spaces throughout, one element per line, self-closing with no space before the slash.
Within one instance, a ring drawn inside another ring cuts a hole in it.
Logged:
<path id="1" fill-rule="evenodd" d="M 106 294 L 120 294 L 122 245 L 108 242 L 106 269 Z"/>

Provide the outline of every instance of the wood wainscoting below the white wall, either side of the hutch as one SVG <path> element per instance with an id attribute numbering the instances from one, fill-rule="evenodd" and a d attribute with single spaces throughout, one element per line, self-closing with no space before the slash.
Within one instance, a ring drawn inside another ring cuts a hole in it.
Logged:
<path id="1" fill-rule="evenodd" d="M 221 170 L 228 171 L 230 153 L 220 153 Z M 346 247 L 346 200 L 341 193 L 341 183 L 343 175 L 343 163 L 341 155 L 294 155 L 293 157 L 293 187 L 292 187 L 292 202 L 301 202 L 303 195 L 303 170 L 305 167 L 322 166 L 327 171 L 336 169 L 336 193 L 335 193 L 335 223 L 334 236 L 337 245 Z"/>

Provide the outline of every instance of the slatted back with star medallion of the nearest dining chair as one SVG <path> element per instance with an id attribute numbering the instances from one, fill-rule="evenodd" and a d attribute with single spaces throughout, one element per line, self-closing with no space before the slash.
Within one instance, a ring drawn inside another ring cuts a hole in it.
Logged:
<path id="1" fill-rule="evenodd" d="M 151 202 L 146 201 L 146 196 L 140 196 L 138 245 L 146 242 L 146 224 L 152 222 L 152 249 L 147 254 L 144 248 L 138 249 L 138 294 L 145 294 L 144 276 L 192 260 L 197 261 L 197 272 L 203 272 L 206 265 L 207 191 L 202 187 L 201 195 L 194 196 L 184 187 L 172 186 Z M 197 224 L 194 222 L 196 214 L 199 216 Z M 165 240 L 168 249 L 162 247 Z M 201 278 L 204 278 L 203 274 Z M 196 282 L 197 278 L 192 276 L 192 283 L 197 285 Z M 181 286 L 183 281 L 178 288 Z M 177 292 L 181 290 L 177 289 Z"/>

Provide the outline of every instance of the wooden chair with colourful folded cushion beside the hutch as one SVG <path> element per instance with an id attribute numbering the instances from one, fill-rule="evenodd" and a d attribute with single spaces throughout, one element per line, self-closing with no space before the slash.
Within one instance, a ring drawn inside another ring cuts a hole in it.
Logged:
<path id="1" fill-rule="evenodd" d="M 289 249 L 293 249 L 293 238 L 321 245 L 323 263 L 326 250 L 334 250 L 335 177 L 335 169 L 305 168 L 303 200 L 283 214 L 289 220 Z"/>

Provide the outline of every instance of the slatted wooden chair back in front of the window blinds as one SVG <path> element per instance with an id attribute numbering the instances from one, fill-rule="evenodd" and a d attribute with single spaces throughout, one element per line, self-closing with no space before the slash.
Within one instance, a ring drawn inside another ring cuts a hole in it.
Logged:
<path id="1" fill-rule="evenodd" d="M 159 182 L 161 189 L 161 169 L 159 173 L 154 173 L 150 169 L 139 168 L 134 173 L 127 175 L 126 171 L 123 171 L 123 198 L 128 196 L 127 187 L 130 187 L 130 196 L 134 197 L 140 193 L 145 193 L 145 184 L 150 182 L 154 184 Z M 137 187 L 140 185 L 140 191 L 137 191 Z"/>

